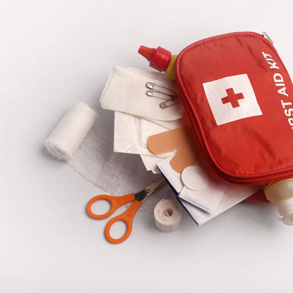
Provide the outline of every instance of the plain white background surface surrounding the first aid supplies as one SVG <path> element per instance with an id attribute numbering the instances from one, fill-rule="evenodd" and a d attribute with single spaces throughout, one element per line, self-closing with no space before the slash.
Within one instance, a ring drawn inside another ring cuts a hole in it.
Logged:
<path id="1" fill-rule="evenodd" d="M 290 292 L 293 227 L 240 203 L 162 233 L 138 212 L 120 245 L 85 213 L 102 190 L 42 141 L 74 101 L 99 97 L 114 65 L 148 69 L 139 45 L 178 53 L 202 38 L 265 30 L 289 73 L 292 1 L 1 1 L 0 292 Z M 119 214 L 121 210 L 118 211 Z"/>

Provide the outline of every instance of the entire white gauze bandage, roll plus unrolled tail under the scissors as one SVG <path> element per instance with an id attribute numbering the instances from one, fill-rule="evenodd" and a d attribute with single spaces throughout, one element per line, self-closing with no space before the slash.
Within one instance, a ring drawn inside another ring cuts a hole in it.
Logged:
<path id="1" fill-rule="evenodd" d="M 161 177 L 161 174 L 147 171 L 139 155 L 114 153 L 111 139 L 101 134 L 96 125 L 89 129 L 90 124 L 86 117 L 91 111 L 95 113 L 84 103 L 72 105 L 45 141 L 47 150 L 53 156 L 66 160 L 88 181 L 115 196 L 136 193 Z M 84 123 L 78 124 L 76 120 Z M 75 127 L 78 127 L 79 131 L 74 130 Z M 75 133 L 75 136 L 72 136 L 72 133 Z M 153 212 L 155 205 L 163 197 L 167 197 L 168 193 L 171 193 L 171 190 L 165 184 L 147 197 L 140 209 Z M 91 195 L 84 196 L 89 198 Z"/>

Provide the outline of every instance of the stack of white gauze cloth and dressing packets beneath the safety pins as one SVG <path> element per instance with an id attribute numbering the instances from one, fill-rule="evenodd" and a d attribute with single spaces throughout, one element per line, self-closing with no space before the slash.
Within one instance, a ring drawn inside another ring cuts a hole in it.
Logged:
<path id="1" fill-rule="evenodd" d="M 156 164 L 176 153 L 151 152 L 149 136 L 186 125 L 182 103 L 162 109 L 162 98 L 148 96 L 148 82 L 177 91 L 174 81 L 165 74 L 135 68 L 114 67 L 100 98 L 101 107 L 115 111 L 114 151 L 139 154 L 147 171 L 160 173 Z M 178 101 L 180 98 L 178 97 Z"/>

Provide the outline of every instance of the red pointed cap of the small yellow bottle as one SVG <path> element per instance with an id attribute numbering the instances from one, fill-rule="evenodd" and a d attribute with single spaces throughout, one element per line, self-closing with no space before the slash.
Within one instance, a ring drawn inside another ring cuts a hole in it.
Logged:
<path id="1" fill-rule="evenodd" d="M 158 47 L 149 48 L 145 46 L 140 46 L 138 49 L 138 53 L 141 54 L 144 58 L 149 61 L 149 66 L 162 72 L 165 71 L 170 64 L 171 61 L 171 52 Z"/>

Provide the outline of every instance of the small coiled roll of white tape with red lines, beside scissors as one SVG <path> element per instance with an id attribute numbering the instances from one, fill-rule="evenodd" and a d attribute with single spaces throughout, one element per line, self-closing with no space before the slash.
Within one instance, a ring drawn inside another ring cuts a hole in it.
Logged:
<path id="1" fill-rule="evenodd" d="M 162 199 L 154 209 L 156 227 L 163 232 L 173 232 L 180 226 L 182 208 L 174 200 Z"/>

